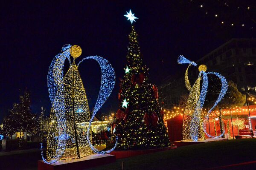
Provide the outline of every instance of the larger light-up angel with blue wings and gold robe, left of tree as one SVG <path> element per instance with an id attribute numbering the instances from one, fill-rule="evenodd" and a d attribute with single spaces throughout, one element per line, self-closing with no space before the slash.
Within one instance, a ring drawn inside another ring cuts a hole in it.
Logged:
<path id="1" fill-rule="evenodd" d="M 60 159 L 77 159 L 94 153 L 110 153 L 114 150 L 101 151 L 93 147 L 90 140 L 90 127 L 97 111 L 104 104 L 113 90 L 115 72 L 112 65 L 104 58 L 91 56 L 82 59 L 76 65 L 75 59 L 81 55 L 78 45 L 64 45 L 62 53 L 53 60 L 48 72 L 48 91 L 52 103 L 47 134 L 47 163 Z M 70 56 L 73 57 L 71 63 Z M 70 66 L 64 76 L 64 62 L 68 59 Z M 99 96 L 90 118 L 84 85 L 78 67 L 86 59 L 96 60 L 102 71 L 102 81 Z M 87 130 L 81 127 L 81 122 L 88 122 Z M 116 141 L 117 143 L 117 141 Z M 41 145 L 42 148 L 42 145 Z"/>

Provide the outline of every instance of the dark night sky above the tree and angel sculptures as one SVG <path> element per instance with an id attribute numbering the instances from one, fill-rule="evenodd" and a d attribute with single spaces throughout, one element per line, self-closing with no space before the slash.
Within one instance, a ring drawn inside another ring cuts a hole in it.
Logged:
<path id="1" fill-rule="evenodd" d="M 123 15 L 130 8 L 139 18 L 135 29 L 141 51 L 151 81 L 157 84 L 178 71 L 180 54 L 197 60 L 231 38 L 255 38 L 256 24 L 246 12 L 236 10 L 239 3 L 227 7 L 209 0 L 200 8 L 201 2 L 205 1 L 2 2 L 0 121 L 12 103 L 18 102 L 19 91 L 26 88 L 31 93 L 32 111 L 40 113 L 44 106 L 49 112 L 48 68 L 64 44 L 81 46 L 82 55 L 77 60 L 98 55 L 111 62 L 117 82 L 102 112 L 116 111 L 118 77 L 124 75 L 131 31 L 131 23 Z M 253 0 L 244 0 L 241 6 L 247 4 L 256 6 Z M 214 17 L 215 13 L 218 17 Z M 221 25 L 222 20 L 225 24 Z M 231 22 L 236 25 L 231 27 Z M 99 92 L 100 68 L 96 62 L 88 61 L 79 66 L 79 71 L 92 109 Z"/>

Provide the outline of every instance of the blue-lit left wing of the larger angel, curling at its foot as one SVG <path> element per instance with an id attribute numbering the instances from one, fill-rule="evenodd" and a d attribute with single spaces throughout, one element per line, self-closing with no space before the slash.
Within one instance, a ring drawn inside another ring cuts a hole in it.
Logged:
<path id="1" fill-rule="evenodd" d="M 58 54 L 54 57 L 49 67 L 47 84 L 49 91 L 49 98 L 52 103 L 52 113 L 55 115 L 56 124 L 55 127 L 58 130 L 55 131 L 58 136 L 55 144 L 55 151 L 52 151 L 52 156 L 50 160 L 44 158 L 43 155 L 43 145 L 41 144 L 41 156 L 46 163 L 55 163 L 61 159 L 66 149 L 66 117 L 64 109 L 64 85 L 62 83 L 64 77 L 64 62 L 66 59 L 70 61 L 70 51 L 68 50 L 71 45 L 64 45 L 62 48 L 62 54 Z M 54 121 L 54 119 L 52 119 Z M 49 123 L 50 126 L 50 123 Z M 53 147 L 52 147 L 53 148 Z"/>

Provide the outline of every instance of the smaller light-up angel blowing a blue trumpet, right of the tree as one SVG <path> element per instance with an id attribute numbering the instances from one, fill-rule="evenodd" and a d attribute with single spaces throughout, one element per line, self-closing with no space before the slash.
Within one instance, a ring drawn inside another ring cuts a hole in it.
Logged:
<path id="1" fill-rule="evenodd" d="M 188 77 L 188 69 L 191 65 L 197 66 L 195 62 L 191 62 L 182 55 L 178 57 L 179 64 L 189 64 L 188 68 L 185 72 L 185 85 L 186 88 L 190 91 L 189 97 L 186 101 L 186 106 L 183 113 L 183 141 L 198 141 L 204 140 L 204 133 L 211 138 L 220 138 L 224 135 L 225 131 L 221 133 L 219 136 L 211 136 L 206 131 L 207 120 L 209 118 L 209 114 L 212 112 L 212 109 L 221 101 L 227 91 L 227 81 L 221 76 L 221 74 L 215 72 L 206 73 L 207 67 L 206 65 L 200 65 L 198 67 L 199 75 L 194 85 L 190 85 L 189 77 Z M 212 74 L 217 76 L 221 80 L 221 91 L 220 94 L 215 101 L 212 108 L 207 112 L 207 115 L 204 117 L 204 120 L 201 119 L 201 111 L 204 106 L 205 97 L 207 94 L 208 88 L 208 74 Z M 202 82 L 201 82 L 202 80 Z M 200 88 L 200 84 L 202 84 Z"/>

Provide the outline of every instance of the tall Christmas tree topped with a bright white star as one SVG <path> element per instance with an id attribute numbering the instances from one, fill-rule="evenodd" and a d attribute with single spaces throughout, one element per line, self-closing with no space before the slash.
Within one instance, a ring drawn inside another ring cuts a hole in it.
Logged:
<path id="1" fill-rule="evenodd" d="M 128 20 L 137 17 L 127 12 Z M 158 92 L 148 78 L 148 68 L 137 41 L 134 25 L 129 34 L 125 76 L 118 94 L 119 109 L 116 113 L 117 149 L 136 150 L 169 146 L 169 138 L 158 103 Z"/>

